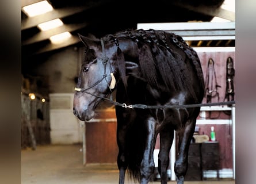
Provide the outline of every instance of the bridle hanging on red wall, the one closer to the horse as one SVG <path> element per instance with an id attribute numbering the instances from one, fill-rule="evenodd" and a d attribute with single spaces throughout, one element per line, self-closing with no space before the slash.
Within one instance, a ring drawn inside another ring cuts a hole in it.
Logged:
<path id="1" fill-rule="evenodd" d="M 215 81 L 214 81 L 215 80 Z M 215 86 L 213 88 L 213 83 L 215 82 Z M 217 78 L 216 78 L 216 72 L 214 68 L 214 61 L 212 58 L 208 60 L 207 65 L 207 76 L 205 78 L 205 95 L 207 97 L 207 103 L 212 102 L 212 98 L 217 96 L 218 102 L 219 102 L 219 92 L 218 87 L 221 87 L 217 84 Z"/>

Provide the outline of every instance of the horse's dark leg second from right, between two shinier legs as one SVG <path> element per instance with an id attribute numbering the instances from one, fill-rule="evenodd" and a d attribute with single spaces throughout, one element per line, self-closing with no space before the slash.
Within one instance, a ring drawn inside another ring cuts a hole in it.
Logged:
<path id="1" fill-rule="evenodd" d="M 166 127 L 160 132 L 160 151 L 158 154 L 158 172 L 161 175 L 161 184 L 168 181 L 167 167 L 169 166 L 169 152 L 173 143 L 174 130 Z"/>

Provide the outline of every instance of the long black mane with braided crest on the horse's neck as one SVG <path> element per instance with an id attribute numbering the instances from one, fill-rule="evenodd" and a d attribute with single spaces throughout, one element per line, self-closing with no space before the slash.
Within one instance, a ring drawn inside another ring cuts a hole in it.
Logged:
<path id="1" fill-rule="evenodd" d="M 204 79 L 201 72 L 197 72 L 201 70 L 197 53 L 177 34 L 154 29 L 127 29 L 116 34 L 108 34 L 102 39 L 114 42 L 117 46 L 118 67 L 124 84 L 126 84 L 125 59 L 119 48 L 120 40 L 131 40 L 136 43 L 142 76 L 151 86 L 159 88 L 158 84 L 162 83 L 167 87 L 166 90 L 185 89 L 193 93 L 193 89 L 189 89 L 192 85 L 185 85 L 192 82 L 190 76 L 186 75 L 189 74 L 186 57 L 192 62 L 198 80 Z M 198 83 L 204 84 L 204 82 Z"/>

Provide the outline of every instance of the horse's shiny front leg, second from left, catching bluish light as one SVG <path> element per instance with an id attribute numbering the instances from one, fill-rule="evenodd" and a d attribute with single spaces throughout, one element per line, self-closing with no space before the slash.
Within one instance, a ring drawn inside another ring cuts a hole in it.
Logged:
<path id="1" fill-rule="evenodd" d="M 152 174 L 154 174 L 154 168 L 155 168 L 155 163 L 154 163 L 154 158 L 153 158 L 153 151 L 155 148 L 155 141 L 156 141 L 156 136 L 155 136 L 155 120 L 154 118 L 149 118 L 147 121 L 147 140 L 146 140 L 146 145 L 145 145 L 145 150 L 144 150 L 144 155 L 142 159 L 142 163 L 140 164 L 140 178 L 141 178 L 141 184 L 147 184 L 151 177 Z"/>

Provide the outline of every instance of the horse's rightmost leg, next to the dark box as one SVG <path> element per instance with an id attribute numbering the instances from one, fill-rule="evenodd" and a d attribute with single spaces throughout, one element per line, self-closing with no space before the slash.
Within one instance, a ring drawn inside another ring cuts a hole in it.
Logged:
<path id="1" fill-rule="evenodd" d="M 185 127 L 178 130 L 179 136 L 179 155 L 175 161 L 174 171 L 177 177 L 177 184 L 184 183 L 184 177 L 188 169 L 188 150 L 190 141 L 193 137 L 196 118 L 188 120 Z"/>

